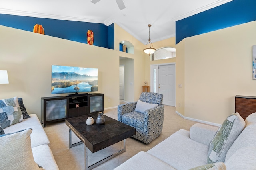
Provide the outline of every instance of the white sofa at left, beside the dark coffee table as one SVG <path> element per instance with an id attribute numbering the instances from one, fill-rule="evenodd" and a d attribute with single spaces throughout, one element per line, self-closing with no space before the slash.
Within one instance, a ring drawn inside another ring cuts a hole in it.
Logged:
<path id="1" fill-rule="evenodd" d="M 31 128 L 32 133 L 30 139 L 34 161 L 45 170 L 58 170 L 59 168 L 49 147 L 50 141 L 37 115 L 30 114 L 30 116 L 30 118 L 24 119 L 24 121 L 20 123 L 4 128 L 4 133 L 14 133 Z M 19 154 L 18 151 L 16 154 Z M 13 158 L 15 159 L 15 156 Z"/>

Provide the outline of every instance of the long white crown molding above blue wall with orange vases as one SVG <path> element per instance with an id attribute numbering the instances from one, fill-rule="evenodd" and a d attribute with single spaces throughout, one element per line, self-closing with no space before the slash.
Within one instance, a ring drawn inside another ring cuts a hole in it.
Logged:
<path id="1" fill-rule="evenodd" d="M 17 16 L 29 16 L 29 17 L 38 17 L 38 18 L 50 18 L 50 19 L 56 19 L 56 20 L 104 23 L 101 20 L 92 20 L 92 19 L 88 19 L 88 18 L 68 17 L 68 16 L 43 14 L 43 13 L 27 12 L 27 11 L 19 11 L 19 10 L 8 10 L 8 9 L 4 9 L 4 8 L 0 8 L 0 14 L 9 14 L 9 15 L 17 15 Z"/>

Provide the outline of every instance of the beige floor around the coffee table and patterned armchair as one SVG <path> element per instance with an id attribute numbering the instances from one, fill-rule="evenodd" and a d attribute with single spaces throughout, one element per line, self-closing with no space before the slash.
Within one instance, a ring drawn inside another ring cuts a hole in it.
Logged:
<path id="1" fill-rule="evenodd" d="M 112 117 L 117 120 L 117 109 L 109 109 L 104 111 L 104 115 Z M 126 139 L 126 152 L 108 160 L 104 164 L 101 164 L 93 170 L 113 170 L 118 165 L 122 164 L 141 150 L 148 151 L 174 132 L 179 129 L 189 130 L 190 127 L 198 122 L 189 121 L 183 119 L 175 113 L 175 107 L 165 106 L 164 109 L 164 127 L 162 134 L 149 144 L 144 144 L 133 138 Z M 64 121 L 46 124 L 44 128 L 48 138 L 50 140 L 50 147 L 54 158 L 60 168 L 60 170 L 83 170 L 84 169 L 84 145 L 78 145 L 69 149 L 68 147 L 68 127 Z M 79 141 L 79 139 L 73 134 L 72 143 Z M 123 142 L 119 142 L 104 150 L 100 150 L 94 154 L 89 153 L 89 162 L 97 162 L 109 156 L 112 151 L 120 150 L 123 147 Z M 91 165 L 91 163 L 89 163 Z"/>

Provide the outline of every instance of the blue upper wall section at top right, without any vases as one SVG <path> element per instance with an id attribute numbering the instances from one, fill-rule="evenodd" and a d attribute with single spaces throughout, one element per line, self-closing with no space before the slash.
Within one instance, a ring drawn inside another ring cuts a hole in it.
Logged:
<path id="1" fill-rule="evenodd" d="M 256 20 L 256 0 L 233 0 L 176 21 L 176 44 L 186 37 Z"/>

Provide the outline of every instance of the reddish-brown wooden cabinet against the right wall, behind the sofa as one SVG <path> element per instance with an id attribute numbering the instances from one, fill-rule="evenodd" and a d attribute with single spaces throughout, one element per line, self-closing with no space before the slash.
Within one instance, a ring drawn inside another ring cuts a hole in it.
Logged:
<path id="1" fill-rule="evenodd" d="M 255 96 L 235 96 L 235 112 L 238 112 L 242 118 L 256 112 Z"/>

